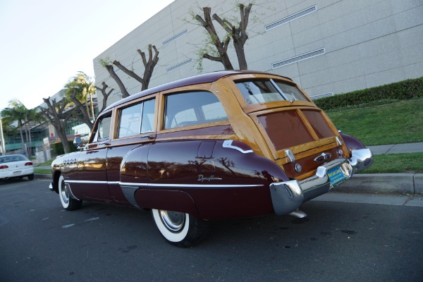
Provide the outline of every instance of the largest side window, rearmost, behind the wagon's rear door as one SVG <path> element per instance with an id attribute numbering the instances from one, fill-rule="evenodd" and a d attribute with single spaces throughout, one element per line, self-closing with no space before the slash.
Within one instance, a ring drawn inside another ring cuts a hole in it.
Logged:
<path id="1" fill-rule="evenodd" d="M 164 129 L 228 119 L 212 92 L 197 91 L 166 96 Z"/>

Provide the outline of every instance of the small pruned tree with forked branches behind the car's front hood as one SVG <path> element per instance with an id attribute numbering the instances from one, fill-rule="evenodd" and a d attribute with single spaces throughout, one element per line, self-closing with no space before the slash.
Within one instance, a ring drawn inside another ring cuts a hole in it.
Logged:
<path id="1" fill-rule="evenodd" d="M 47 118 L 47 121 L 56 129 L 56 133 L 59 135 L 65 154 L 71 152 L 68 136 L 66 135 L 66 123 L 72 116 L 70 113 L 66 112 L 69 106 L 68 100 L 66 97 L 59 102 L 56 102 L 56 99 L 50 99 L 50 97 L 47 99 L 43 98 L 43 100 L 47 107 L 40 106 L 39 109 Z"/>

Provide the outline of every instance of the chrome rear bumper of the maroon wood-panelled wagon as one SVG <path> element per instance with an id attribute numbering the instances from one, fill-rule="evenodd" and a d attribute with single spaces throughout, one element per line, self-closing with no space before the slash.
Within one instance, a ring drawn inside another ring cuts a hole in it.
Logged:
<path id="1" fill-rule="evenodd" d="M 327 171 L 339 167 L 345 177 L 342 182 L 351 178 L 358 171 L 362 171 L 373 164 L 373 154 L 370 149 L 356 149 L 350 159 L 335 159 L 317 168 L 314 176 L 303 180 L 290 180 L 271 183 L 271 202 L 278 215 L 290 214 L 296 211 L 303 202 L 329 192 L 333 188 Z M 341 184 L 337 183 L 336 185 Z"/>

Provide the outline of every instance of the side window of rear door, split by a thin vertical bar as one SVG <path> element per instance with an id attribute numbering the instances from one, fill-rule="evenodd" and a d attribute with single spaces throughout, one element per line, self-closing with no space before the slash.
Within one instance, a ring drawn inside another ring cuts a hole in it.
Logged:
<path id="1" fill-rule="evenodd" d="M 139 135 L 154 130 L 155 99 L 121 109 L 118 138 Z"/>

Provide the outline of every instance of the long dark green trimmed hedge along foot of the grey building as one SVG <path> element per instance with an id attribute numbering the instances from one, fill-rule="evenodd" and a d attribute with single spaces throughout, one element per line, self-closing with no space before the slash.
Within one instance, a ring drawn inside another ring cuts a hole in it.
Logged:
<path id="1" fill-rule="evenodd" d="M 423 97 L 423 77 L 314 100 L 324 111 Z"/>

